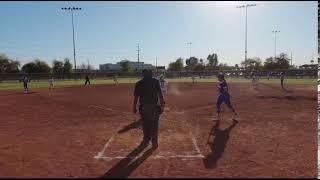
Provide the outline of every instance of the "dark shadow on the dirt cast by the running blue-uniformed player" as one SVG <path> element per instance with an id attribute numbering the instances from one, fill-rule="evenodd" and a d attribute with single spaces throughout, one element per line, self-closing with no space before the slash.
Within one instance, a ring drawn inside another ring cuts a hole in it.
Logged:
<path id="1" fill-rule="evenodd" d="M 217 167 L 218 160 L 222 157 L 226 144 L 229 140 L 229 135 L 231 130 L 235 127 L 235 125 L 238 123 L 238 121 L 233 120 L 233 124 L 230 125 L 225 130 L 219 129 L 220 121 L 217 121 L 217 123 L 212 127 L 210 131 L 210 136 L 214 136 L 213 142 L 209 142 L 208 144 L 211 149 L 211 153 L 206 155 L 203 159 L 203 164 L 207 169 L 213 169 Z"/>

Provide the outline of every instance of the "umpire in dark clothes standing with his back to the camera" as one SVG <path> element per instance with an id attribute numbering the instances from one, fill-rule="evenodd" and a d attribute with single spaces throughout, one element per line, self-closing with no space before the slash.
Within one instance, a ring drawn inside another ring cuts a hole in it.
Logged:
<path id="1" fill-rule="evenodd" d="M 136 83 L 134 90 L 133 112 L 137 113 L 139 100 L 139 113 L 142 117 L 143 141 L 142 145 L 152 142 L 152 147 L 158 147 L 159 117 L 164 109 L 164 100 L 159 81 L 152 77 L 152 71 L 144 69 L 143 79 Z M 158 100 L 160 99 L 160 105 Z"/>

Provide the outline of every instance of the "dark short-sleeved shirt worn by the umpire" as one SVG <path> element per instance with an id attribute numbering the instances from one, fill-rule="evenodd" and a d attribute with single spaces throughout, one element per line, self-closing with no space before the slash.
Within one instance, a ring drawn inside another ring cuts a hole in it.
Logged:
<path id="1" fill-rule="evenodd" d="M 157 104 L 161 93 L 159 81 L 155 78 L 143 78 L 136 83 L 134 95 L 139 96 L 140 105 Z"/>

